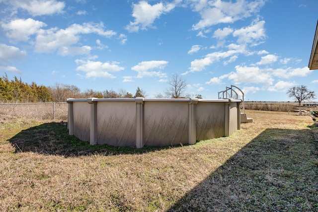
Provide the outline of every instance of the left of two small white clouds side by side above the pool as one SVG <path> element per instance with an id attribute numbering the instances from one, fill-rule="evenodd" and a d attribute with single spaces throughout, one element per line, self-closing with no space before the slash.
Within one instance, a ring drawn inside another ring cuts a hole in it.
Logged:
<path id="1" fill-rule="evenodd" d="M 85 72 L 85 75 L 87 78 L 90 78 L 90 77 L 115 78 L 115 76 L 109 72 L 117 72 L 117 71 L 124 70 L 124 68 L 120 67 L 119 63 L 117 62 L 102 63 L 99 61 L 76 60 L 75 63 L 78 65 L 76 70 Z"/>

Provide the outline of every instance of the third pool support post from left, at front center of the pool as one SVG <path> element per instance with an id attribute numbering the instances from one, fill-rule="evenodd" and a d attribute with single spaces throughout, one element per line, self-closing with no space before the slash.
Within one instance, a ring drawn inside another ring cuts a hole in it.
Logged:
<path id="1" fill-rule="evenodd" d="M 144 147 L 144 98 L 137 97 L 136 101 L 136 148 Z"/>

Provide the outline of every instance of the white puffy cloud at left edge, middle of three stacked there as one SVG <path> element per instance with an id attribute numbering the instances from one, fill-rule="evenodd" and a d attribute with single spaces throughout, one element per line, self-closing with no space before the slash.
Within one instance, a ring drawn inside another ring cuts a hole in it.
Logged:
<path id="1" fill-rule="evenodd" d="M 7 31 L 6 36 L 17 41 L 28 41 L 30 35 L 36 34 L 44 26 L 46 23 L 32 18 L 15 19 L 1 24 L 4 31 Z"/>

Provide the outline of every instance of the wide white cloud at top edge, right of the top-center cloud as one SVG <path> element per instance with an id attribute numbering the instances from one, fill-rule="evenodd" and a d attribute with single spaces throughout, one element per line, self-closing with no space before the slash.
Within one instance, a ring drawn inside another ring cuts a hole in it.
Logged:
<path id="1" fill-rule="evenodd" d="M 200 0 L 195 1 L 192 6 L 194 11 L 199 11 L 201 20 L 192 25 L 193 30 L 199 30 L 219 23 L 233 23 L 241 18 L 250 17 L 258 12 L 264 5 L 264 0 L 248 2 L 246 0 L 232 1 L 222 0 Z"/>

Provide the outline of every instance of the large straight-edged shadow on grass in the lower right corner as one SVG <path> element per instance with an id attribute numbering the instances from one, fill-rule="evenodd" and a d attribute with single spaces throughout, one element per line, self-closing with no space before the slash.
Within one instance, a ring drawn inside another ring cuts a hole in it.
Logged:
<path id="1" fill-rule="evenodd" d="M 168 211 L 318 212 L 318 131 L 308 127 L 266 129 Z"/>

